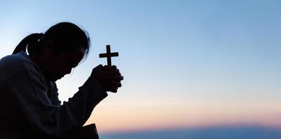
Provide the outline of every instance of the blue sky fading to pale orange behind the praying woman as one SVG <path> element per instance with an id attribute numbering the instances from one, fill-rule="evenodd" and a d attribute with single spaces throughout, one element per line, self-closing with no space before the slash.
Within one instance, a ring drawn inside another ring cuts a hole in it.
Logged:
<path id="1" fill-rule="evenodd" d="M 73 22 L 88 57 L 57 81 L 67 101 L 106 64 L 125 77 L 86 124 L 100 133 L 207 126 L 281 128 L 281 1 L 0 1 L 0 56 L 30 33 Z"/>

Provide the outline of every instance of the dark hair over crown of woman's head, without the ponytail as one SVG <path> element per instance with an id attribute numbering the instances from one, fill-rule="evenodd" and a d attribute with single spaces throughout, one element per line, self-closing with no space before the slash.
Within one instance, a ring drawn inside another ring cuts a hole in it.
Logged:
<path id="1" fill-rule="evenodd" d="M 44 34 L 38 38 L 38 43 L 29 44 L 29 54 L 40 54 L 43 51 L 42 44 L 48 41 L 54 42 L 54 51 L 58 53 L 73 51 L 77 47 L 83 47 L 85 55 L 90 48 L 90 38 L 88 33 L 79 26 L 70 22 L 61 22 L 51 26 Z"/>

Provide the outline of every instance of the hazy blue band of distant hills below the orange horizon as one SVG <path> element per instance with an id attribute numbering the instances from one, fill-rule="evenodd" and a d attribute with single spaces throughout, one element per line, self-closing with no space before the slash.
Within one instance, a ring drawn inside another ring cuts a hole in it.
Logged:
<path id="1" fill-rule="evenodd" d="M 281 129 L 267 129 L 262 126 L 216 126 L 202 129 L 100 134 L 99 136 L 103 139 L 280 139 Z"/>

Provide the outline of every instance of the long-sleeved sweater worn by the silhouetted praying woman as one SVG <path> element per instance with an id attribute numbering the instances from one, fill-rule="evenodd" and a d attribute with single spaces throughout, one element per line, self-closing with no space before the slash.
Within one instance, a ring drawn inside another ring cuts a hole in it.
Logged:
<path id="1" fill-rule="evenodd" d="M 0 138 L 62 136 L 88 120 L 93 108 L 107 97 L 93 77 L 68 101 L 58 99 L 56 83 L 25 53 L 0 60 Z"/>

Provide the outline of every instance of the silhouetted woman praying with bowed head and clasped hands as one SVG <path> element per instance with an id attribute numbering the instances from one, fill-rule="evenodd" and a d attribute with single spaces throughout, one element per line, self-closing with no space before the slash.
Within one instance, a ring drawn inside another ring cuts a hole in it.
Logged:
<path id="1" fill-rule="evenodd" d="M 67 102 L 56 83 L 88 55 L 88 33 L 70 22 L 24 38 L 0 60 L 0 138 L 61 138 L 85 124 L 107 92 L 123 80 L 116 66 L 98 65 Z M 26 51 L 27 50 L 27 51 Z"/>

